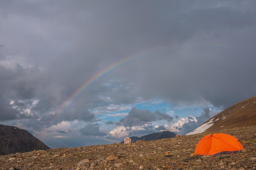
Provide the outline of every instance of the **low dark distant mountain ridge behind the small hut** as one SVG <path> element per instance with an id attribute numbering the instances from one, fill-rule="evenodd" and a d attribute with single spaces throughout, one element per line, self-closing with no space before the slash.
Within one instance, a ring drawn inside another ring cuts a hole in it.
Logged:
<path id="1" fill-rule="evenodd" d="M 141 137 L 132 136 L 130 138 L 131 138 L 132 142 L 136 142 L 137 140 L 150 141 L 150 140 L 166 139 L 166 138 L 170 138 L 170 137 L 175 137 L 175 135 L 177 135 L 177 134 L 170 132 L 170 131 L 162 131 L 162 132 L 158 132 L 158 133 L 151 133 L 151 134 L 141 136 Z M 124 143 L 124 141 L 122 141 L 121 143 Z"/>

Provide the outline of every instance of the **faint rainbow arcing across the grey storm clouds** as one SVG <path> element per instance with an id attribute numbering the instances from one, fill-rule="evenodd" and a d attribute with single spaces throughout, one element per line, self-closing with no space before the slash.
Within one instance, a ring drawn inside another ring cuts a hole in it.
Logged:
<path id="1" fill-rule="evenodd" d="M 104 68 L 103 70 L 97 72 L 97 74 L 92 76 L 88 81 L 85 81 L 85 83 L 83 83 L 83 85 L 81 85 L 78 89 L 76 89 L 73 92 L 73 94 L 63 102 L 61 107 L 58 109 L 58 111 L 52 117 L 51 122 L 56 120 L 58 115 L 60 115 L 80 94 L 82 94 L 85 91 L 85 89 L 90 87 L 90 85 L 92 85 L 95 81 L 99 80 L 101 77 L 105 76 L 106 74 L 108 74 L 112 70 L 120 67 L 121 65 L 124 65 L 125 63 L 128 63 L 128 62 L 132 61 L 133 59 L 136 59 L 138 57 L 142 57 L 142 56 L 145 56 L 146 54 L 151 53 L 154 49 L 156 49 L 156 48 L 153 48 L 151 50 L 143 50 L 143 51 L 140 51 L 139 53 L 135 53 L 128 57 L 124 57 L 124 59 L 121 59 L 121 60 L 113 63 L 112 65 L 109 65 L 107 68 Z"/>

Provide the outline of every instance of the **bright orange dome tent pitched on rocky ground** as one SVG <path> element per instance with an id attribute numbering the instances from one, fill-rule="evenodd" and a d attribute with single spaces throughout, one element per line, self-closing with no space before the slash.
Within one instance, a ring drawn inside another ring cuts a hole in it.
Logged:
<path id="1" fill-rule="evenodd" d="M 195 147 L 195 155 L 234 153 L 243 149 L 236 137 L 224 133 L 213 133 L 204 136 L 198 142 Z"/>

